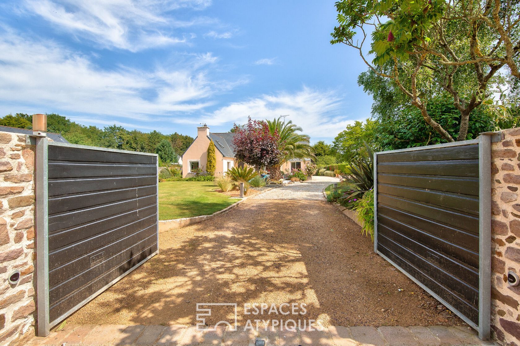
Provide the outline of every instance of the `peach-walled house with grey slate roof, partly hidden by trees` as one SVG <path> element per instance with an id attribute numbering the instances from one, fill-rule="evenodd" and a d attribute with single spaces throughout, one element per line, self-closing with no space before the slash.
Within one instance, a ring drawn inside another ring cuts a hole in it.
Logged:
<path id="1" fill-rule="evenodd" d="M 197 169 L 206 169 L 207 165 L 207 147 L 210 141 L 213 140 L 215 144 L 215 176 L 223 175 L 231 167 L 238 166 L 238 160 L 235 159 L 235 146 L 233 146 L 232 132 L 210 132 L 210 128 L 203 124 L 197 128 L 197 137 L 188 147 L 182 156 L 183 162 L 183 177 L 188 176 Z M 282 164 L 281 170 L 293 168 L 305 169 L 305 165 L 310 162 L 310 159 L 292 159 Z"/>

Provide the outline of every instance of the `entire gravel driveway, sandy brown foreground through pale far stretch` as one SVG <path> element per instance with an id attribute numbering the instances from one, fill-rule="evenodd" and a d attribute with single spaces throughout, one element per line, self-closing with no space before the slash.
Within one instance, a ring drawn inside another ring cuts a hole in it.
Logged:
<path id="1" fill-rule="evenodd" d="M 373 253 L 369 238 L 321 194 L 319 177 L 160 234 L 160 253 L 69 317 L 73 324 L 194 325 L 196 304 L 306 303 L 324 325 L 463 325 Z M 230 319 L 213 310 L 209 325 Z M 280 315 L 253 318 L 280 319 Z"/>

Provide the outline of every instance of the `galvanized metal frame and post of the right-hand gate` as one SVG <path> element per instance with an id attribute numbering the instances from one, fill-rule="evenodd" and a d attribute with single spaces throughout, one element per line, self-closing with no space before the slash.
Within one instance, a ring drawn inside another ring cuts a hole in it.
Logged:
<path id="1" fill-rule="evenodd" d="M 480 134 L 477 139 L 454 143 L 428 145 L 423 147 L 406 148 L 398 150 L 380 151 L 374 153 L 374 252 L 394 267 L 408 276 L 413 282 L 421 286 L 444 306 L 456 313 L 464 322 L 478 331 L 478 337 L 483 340 L 489 339 L 490 313 L 491 313 L 491 136 L 495 132 Z M 478 178 L 479 178 L 479 218 L 478 218 L 478 242 L 479 242 L 479 265 L 478 265 L 478 325 L 465 317 L 460 311 L 453 308 L 448 302 L 440 298 L 431 289 L 415 279 L 407 271 L 399 267 L 394 261 L 378 251 L 378 155 L 390 153 L 404 153 L 405 151 L 418 151 L 435 148 L 448 148 L 478 144 Z"/>

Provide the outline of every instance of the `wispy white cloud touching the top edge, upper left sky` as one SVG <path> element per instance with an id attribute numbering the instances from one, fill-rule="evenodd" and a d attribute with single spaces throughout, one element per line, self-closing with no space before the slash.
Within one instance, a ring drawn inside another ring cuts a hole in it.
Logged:
<path id="1" fill-rule="evenodd" d="M 24 8 L 67 33 L 107 48 L 136 52 L 151 47 L 186 43 L 191 34 L 175 35 L 172 28 L 198 21 L 178 21 L 171 11 L 202 9 L 210 0 L 25 0 Z"/>

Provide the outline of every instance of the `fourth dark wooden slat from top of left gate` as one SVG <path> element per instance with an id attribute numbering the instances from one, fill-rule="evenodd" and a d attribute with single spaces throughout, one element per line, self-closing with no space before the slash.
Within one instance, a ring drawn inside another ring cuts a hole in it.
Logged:
<path id="1" fill-rule="evenodd" d="M 149 185 L 137 188 L 87 192 L 65 196 L 62 195 L 57 198 L 49 198 L 49 215 L 82 209 L 99 204 L 155 195 L 155 193 L 157 193 L 157 186 Z"/>

